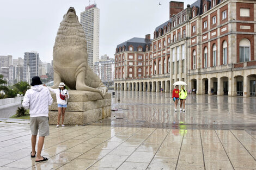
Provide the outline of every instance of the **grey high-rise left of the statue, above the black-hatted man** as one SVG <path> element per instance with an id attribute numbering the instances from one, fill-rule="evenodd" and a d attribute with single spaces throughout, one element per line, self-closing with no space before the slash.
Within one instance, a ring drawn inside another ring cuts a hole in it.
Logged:
<path id="1" fill-rule="evenodd" d="M 24 53 L 23 81 L 28 83 L 34 76 L 39 75 L 39 53 Z"/>

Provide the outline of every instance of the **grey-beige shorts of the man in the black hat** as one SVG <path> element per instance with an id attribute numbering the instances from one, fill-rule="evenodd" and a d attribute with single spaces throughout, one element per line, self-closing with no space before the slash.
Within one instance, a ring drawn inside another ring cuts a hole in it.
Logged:
<path id="1" fill-rule="evenodd" d="M 30 129 L 32 135 L 37 135 L 39 130 L 39 136 L 49 135 L 49 123 L 48 117 L 31 117 Z"/>

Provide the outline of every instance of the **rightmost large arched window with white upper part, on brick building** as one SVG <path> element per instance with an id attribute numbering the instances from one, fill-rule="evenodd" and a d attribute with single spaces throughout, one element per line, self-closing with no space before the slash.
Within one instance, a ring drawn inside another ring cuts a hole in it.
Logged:
<path id="1" fill-rule="evenodd" d="M 251 61 L 250 47 L 251 47 L 251 43 L 248 39 L 242 39 L 239 42 L 239 61 L 240 62 Z"/>

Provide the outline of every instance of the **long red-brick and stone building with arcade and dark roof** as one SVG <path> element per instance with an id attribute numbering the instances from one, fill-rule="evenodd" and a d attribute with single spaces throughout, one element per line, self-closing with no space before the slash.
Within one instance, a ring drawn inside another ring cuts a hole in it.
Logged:
<path id="1" fill-rule="evenodd" d="M 117 46 L 115 89 L 170 92 L 181 80 L 199 95 L 212 87 L 216 95 L 255 96 L 256 1 L 198 0 L 183 7 L 170 2 L 170 18 L 150 42 Z"/>

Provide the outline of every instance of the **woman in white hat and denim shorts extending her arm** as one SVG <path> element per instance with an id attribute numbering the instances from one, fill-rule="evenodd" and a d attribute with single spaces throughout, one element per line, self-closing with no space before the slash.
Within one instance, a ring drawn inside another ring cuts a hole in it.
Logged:
<path id="1" fill-rule="evenodd" d="M 46 86 L 44 84 L 44 86 Z M 58 124 L 56 127 L 59 127 L 59 121 L 60 121 L 60 116 L 62 115 L 62 127 L 64 127 L 64 118 L 65 118 L 65 111 L 66 111 L 66 106 L 68 104 L 68 99 L 69 99 L 69 91 L 66 90 L 66 85 L 61 82 L 59 83 L 59 89 L 52 89 L 50 87 L 47 87 L 50 91 L 54 92 L 56 94 L 56 99 L 57 99 L 57 104 L 58 104 Z"/>

